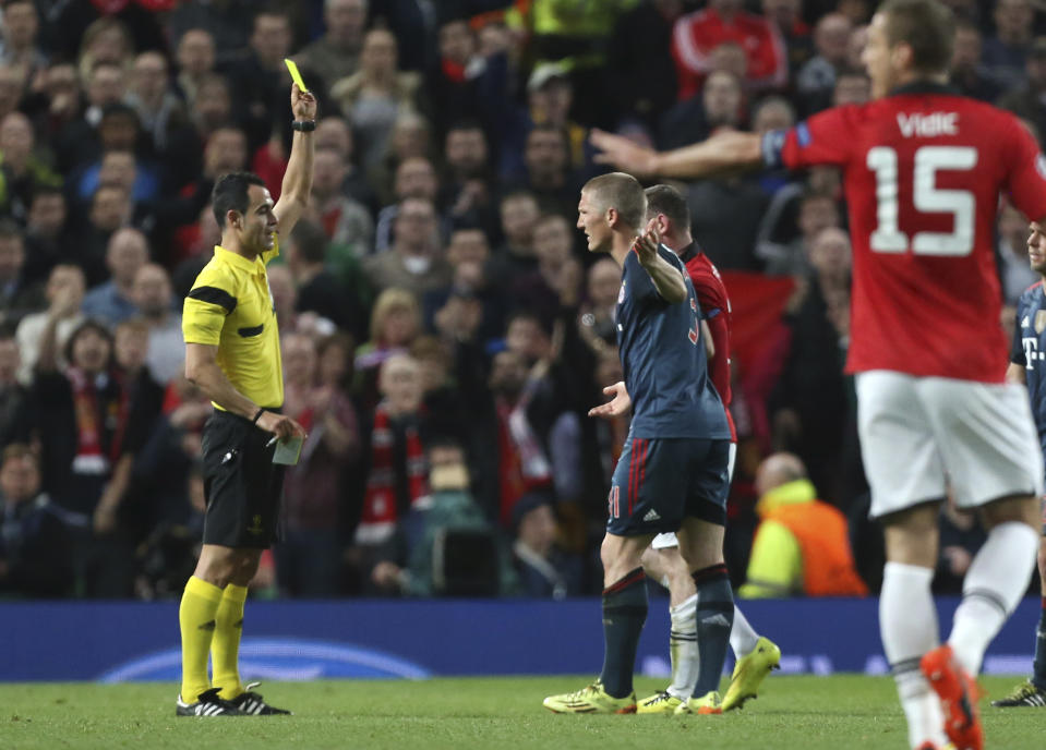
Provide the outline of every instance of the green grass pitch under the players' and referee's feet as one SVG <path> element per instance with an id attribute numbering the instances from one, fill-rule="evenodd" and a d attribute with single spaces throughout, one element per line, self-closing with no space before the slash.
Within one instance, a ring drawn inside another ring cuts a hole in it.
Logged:
<path id="1" fill-rule="evenodd" d="M 591 679 L 590 677 L 588 679 Z M 541 699 L 585 677 L 266 684 L 289 717 L 176 718 L 177 686 L 0 684 L 0 748 L 549 748 L 629 750 L 904 750 L 904 719 L 883 677 L 771 676 L 762 694 L 723 716 L 565 716 Z M 985 678 L 993 697 L 1012 678 Z M 725 686 L 725 681 L 724 681 Z M 640 694 L 663 687 L 637 680 Z M 999 711 L 982 701 L 986 747 L 1042 750 L 1046 710 Z"/>

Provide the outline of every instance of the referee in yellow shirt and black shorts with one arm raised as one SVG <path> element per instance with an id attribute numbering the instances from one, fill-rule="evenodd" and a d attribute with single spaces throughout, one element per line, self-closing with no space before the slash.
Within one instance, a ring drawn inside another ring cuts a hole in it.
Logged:
<path id="1" fill-rule="evenodd" d="M 284 380 L 276 310 L 265 265 L 279 253 L 312 186 L 316 99 L 291 87 L 294 137 L 273 204 L 255 174 L 218 179 L 212 204 L 221 244 L 200 271 L 182 315 L 185 377 L 211 398 L 203 435 L 207 511 L 200 561 L 182 595 L 182 684 L 178 716 L 287 714 L 240 682 L 239 649 L 247 585 L 276 540 L 282 468 L 272 436 L 304 437 L 279 413 Z M 207 678 L 213 657 L 214 681 Z"/>

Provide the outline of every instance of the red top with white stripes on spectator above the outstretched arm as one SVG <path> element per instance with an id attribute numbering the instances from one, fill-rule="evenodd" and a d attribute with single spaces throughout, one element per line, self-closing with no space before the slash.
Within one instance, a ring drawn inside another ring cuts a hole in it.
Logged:
<path id="1" fill-rule="evenodd" d="M 787 83 L 789 60 L 777 26 L 761 15 L 745 12 L 725 21 L 708 8 L 681 16 L 672 29 L 680 100 L 701 89 L 705 76 L 711 72 L 712 50 L 724 41 L 733 41 L 745 50 L 749 84 L 781 88 Z"/>

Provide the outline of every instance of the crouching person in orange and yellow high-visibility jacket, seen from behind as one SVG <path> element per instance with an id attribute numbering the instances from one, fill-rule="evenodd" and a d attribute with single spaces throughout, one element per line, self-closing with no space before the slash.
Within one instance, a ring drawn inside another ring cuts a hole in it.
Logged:
<path id="1" fill-rule="evenodd" d="M 774 453 L 756 473 L 756 531 L 743 597 L 865 596 L 854 569 L 846 519 L 817 499 L 798 457 Z"/>

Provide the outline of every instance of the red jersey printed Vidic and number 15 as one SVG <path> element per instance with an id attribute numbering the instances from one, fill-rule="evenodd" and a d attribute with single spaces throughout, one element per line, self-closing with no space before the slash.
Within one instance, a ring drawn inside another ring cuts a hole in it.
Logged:
<path id="1" fill-rule="evenodd" d="M 846 371 L 1001 382 L 999 194 L 1046 218 L 1046 160 L 1015 117 L 922 82 L 764 137 L 764 158 L 843 169 L 853 242 Z"/>

